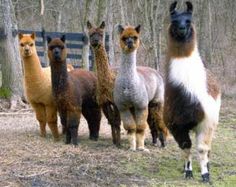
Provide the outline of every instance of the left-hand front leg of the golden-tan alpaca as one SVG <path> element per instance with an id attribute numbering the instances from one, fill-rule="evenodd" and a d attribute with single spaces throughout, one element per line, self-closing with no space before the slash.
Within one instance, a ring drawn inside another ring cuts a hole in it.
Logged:
<path id="1" fill-rule="evenodd" d="M 40 125 L 40 136 L 46 137 L 46 110 L 45 106 L 42 104 L 36 104 L 36 103 L 31 103 L 31 106 L 33 107 L 35 113 L 36 113 L 36 118 L 39 121 Z"/>

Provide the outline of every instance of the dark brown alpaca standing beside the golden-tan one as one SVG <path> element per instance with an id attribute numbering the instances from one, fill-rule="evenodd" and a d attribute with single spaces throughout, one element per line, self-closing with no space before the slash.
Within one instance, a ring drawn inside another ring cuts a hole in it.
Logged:
<path id="1" fill-rule="evenodd" d="M 88 122 L 90 139 L 99 136 L 101 110 L 96 101 L 96 76 L 89 71 L 67 71 L 65 35 L 47 37 L 52 92 L 66 133 L 66 144 L 78 144 L 81 113 Z"/>

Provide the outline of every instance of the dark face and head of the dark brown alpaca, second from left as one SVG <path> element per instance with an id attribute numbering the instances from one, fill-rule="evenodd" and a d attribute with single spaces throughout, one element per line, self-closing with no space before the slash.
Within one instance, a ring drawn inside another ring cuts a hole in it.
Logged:
<path id="1" fill-rule="evenodd" d="M 65 46 L 65 35 L 61 38 L 47 37 L 48 41 L 48 58 L 50 61 L 64 62 L 67 56 Z"/>

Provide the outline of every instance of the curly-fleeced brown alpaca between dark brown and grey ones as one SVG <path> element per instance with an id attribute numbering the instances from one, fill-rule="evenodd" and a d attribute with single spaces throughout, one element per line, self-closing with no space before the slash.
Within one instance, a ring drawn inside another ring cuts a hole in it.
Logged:
<path id="1" fill-rule="evenodd" d="M 113 144 L 120 146 L 120 114 L 113 101 L 113 88 L 115 82 L 114 69 L 109 67 L 107 53 L 103 45 L 105 22 L 94 28 L 88 21 L 90 45 L 95 56 L 98 77 L 97 98 L 102 106 L 104 115 L 111 124 Z"/>

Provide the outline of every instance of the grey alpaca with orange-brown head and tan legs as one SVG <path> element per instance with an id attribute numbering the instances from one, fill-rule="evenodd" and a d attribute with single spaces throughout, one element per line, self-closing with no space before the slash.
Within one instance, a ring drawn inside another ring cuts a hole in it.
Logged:
<path id="1" fill-rule="evenodd" d="M 144 147 L 147 120 L 151 125 L 155 124 L 151 123 L 152 120 L 159 120 L 159 128 L 166 134 L 162 122 L 164 83 L 156 70 L 136 66 L 140 25 L 135 28 L 131 26 L 123 28 L 119 25 L 119 33 L 122 62 L 115 80 L 114 101 L 124 128 L 128 131 L 130 149 L 148 151 Z M 155 115 L 148 118 L 149 107 L 157 110 L 154 110 Z"/>

